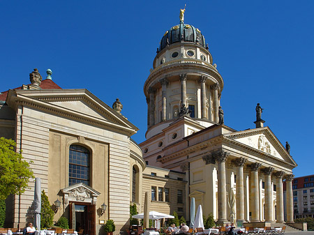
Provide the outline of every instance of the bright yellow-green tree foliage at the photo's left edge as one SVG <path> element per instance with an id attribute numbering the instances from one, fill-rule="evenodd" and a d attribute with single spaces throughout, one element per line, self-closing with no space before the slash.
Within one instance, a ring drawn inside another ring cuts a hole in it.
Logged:
<path id="1" fill-rule="evenodd" d="M 0 138 L 0 199 L 22 194 L 28 187 L 29 178 L 33 178 L 29 162 L 14 151 L 15 146 L 14 140 Z"/>

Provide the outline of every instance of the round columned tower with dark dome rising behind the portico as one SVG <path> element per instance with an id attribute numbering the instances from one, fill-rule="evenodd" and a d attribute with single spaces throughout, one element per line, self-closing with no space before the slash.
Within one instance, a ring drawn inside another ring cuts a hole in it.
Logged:
<path id="1" fill-rule="evenodd" d="M 201 31 L 190 24 L 172 26 L 160 40 L 151 73 L 144 84 L 147 98 L 147 139 L 179 118 L 188 108 L 201 126 L 218 123 L 223 78 Z"/>

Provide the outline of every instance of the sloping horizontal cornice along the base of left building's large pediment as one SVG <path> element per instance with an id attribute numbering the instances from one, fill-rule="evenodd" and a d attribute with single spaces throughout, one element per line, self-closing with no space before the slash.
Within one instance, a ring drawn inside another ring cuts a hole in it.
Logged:
<path id="1" fill-rule="evenodd" d="M 42 110 L 43 112 L 54 114 L 55 116 L 64 116 L 68 119 L 88 123 L 91 126 L 98 126 L 100 128 L 105 128 L 107 130 L 112 130 L 114 132 L 120 132 L 121 134 L 128 136 L 134 135 L 136 133 L 136 131 L 132 128 L 124 127 L 117 123 L 101 120 L 94 116 L 89 116 L 87 114 L 75 112 L 71 109 L 60 107 L 58 105 L 46 103 L 43 100 L 37 100 L 23 95 L 11 98 L 12 100 L 10 100 L 10 102 L 14 102 L 15 107 L 17 107 L 18 105 L 33 107 L 35 109 Z"/>

